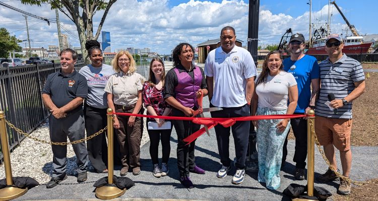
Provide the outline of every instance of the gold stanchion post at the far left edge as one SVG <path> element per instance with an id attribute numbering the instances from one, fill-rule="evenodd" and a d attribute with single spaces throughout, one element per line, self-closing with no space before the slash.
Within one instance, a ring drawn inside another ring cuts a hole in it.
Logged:
<path id="1" fill-rule="evenodd" d="M 9 154 L 7 127 L 5 123 L 4 111 L 0 111 L 0 138 L 2 141 L 2 151 L 4 158 L 5 177 L 7 187 L 0 189 L 0 200 L 10 200 L 17 198 L 28 191 L 28 188 L 18 188 L 13 185 L 11 156 Z"/>

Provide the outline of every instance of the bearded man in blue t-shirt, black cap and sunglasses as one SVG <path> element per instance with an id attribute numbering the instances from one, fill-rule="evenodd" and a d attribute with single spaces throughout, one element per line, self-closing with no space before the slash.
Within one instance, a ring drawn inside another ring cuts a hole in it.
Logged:
<path id="1" fill-rule="evenodd" d="M 293 74 L 298 84 L 298 104 L 294 114 L 307 114 L 314 109 L 317 94 L 320 90 L 318 60 L 303 54 L 304 37 L 296 33 L 291 36 L 288 50 L 290 58 L 283 61 L 284 70 Z M 312 92 L 311 88 L 312 87 Z M 294 177 L 298 180 L 305 179 L 305 167 L 307 156 L 307 122 L 303 118 L 291 119 L 291 128 L 295 136 L 295 164 Z M 283 147 L 282 166 L 285 164 L 287 155 L 287 137 Z"/>

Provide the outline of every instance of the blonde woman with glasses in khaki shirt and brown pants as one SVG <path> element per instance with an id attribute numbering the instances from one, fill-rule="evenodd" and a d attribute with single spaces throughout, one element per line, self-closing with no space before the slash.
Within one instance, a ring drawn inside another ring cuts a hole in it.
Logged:
<path id="1" fill-rule="evenodd" d="M 105 86 L 109 108 L 117 113 L 143 114 L 142 89 L 144 77 L 136 72 L 137 67 L 128 51 L 120 51 L 111 62 L 115 72 Z M 124 176 L 133 169 L 133 174 L 141 173 L 140 146 L 143 133 L 143 118 L 136 116 L 114 117 L 115 133 L 121 152 Z"/>

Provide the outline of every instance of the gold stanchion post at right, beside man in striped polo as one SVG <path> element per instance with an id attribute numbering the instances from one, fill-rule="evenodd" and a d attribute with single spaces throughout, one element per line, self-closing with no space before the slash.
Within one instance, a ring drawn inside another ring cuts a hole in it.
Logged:
<path id="1" fill-rule="evenodd" d="M 302 201 L 302 200 L 318 200 L 314 199 L 313 196 L 313 179 L 314 179 L 314 157 L 315 157 L 315 150 L 314 150 L 314 133 L 312 133 L 312 129 L 310 126 L 310 122 L 315 119 L 315 111 L 309 110 L 307 113 L 307 195 L 312 196 L 312 199 L 305 199 L 305 198 L 294 198 L 292 200 L 295 201 Z"/>

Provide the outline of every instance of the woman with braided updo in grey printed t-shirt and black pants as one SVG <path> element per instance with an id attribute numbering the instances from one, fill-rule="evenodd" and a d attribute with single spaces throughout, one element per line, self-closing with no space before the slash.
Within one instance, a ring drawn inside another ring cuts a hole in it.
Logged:
<path id="1" fill-rule="evenodd" d="M 106 124 L 106 109 L 108 108 L 105 84 L 114 70 L 110 65 L 103 64 L 104 57 L 100 43 L 89 40 L 85 43 L 91 64 L 80 69 L 88 83 L 88 97 L 84 102 L 85 130 L 87 137 L 103 129 Z M 98 173 L 107 173 L 106 133 L 87 141 L 88 157 Z"/>

